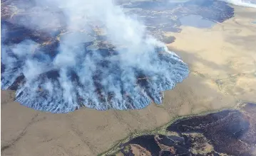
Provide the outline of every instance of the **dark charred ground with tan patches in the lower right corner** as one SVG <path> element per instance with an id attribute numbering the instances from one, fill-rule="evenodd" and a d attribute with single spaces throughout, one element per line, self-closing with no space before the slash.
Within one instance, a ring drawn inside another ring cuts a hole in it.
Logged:
<path id="1" fill-rule="evenodd" d="M 122 143 L 123 155 L 252 155 L 256 143 L 256 104 L 237 109 L 181 118 L 166 133 L 141 135 Z M 163 133 L 163 130 L 161 130 Z"/>

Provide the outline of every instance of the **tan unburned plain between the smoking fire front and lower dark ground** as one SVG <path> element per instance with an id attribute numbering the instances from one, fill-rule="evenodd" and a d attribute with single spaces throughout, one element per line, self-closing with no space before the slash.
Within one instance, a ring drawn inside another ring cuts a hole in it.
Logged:
<path id="1" fill-rule="evenodd" d="M 168 47 L 191 72 L 165 91 L 160 106 L 53 114 L 21 106 L 13 101 L 14 92 L 1 91 L 1 155 L 98 155 L 132 133 L 154 130 L 180 116 L 256 101 L 255 14 L 256 9 L 235 7 L 234 18 L 213 28 L 182 26 L 180 33 L 166 33 L 175 36 Z"/>

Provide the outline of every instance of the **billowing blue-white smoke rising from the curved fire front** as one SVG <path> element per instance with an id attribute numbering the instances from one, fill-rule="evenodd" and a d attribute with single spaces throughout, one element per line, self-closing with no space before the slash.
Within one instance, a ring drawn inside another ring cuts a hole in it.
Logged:
<path id="1" fill-rule="evenodd" d="M 59 40 L 56 51 L 30 38 L 2 43 L 1 88 L 18 85 L 16 101 L 25 106 L 53 113 L 81 106 L 144 108 L 152 100 L 160 104 L 160 92 L 173 89 L 188 76 L 188 66 L 180 57 L 147 35 L 135 16 L 126 16 L 111 0 L 16 3 L 27 13 L 10 23 Z M 103 28 L 112 49 L 89 48 L 98 38 L 93 26 Z M 62 28 L 65 32 L 56 36 Z M 3 40 L 10 32 L 2 30 Z"/>

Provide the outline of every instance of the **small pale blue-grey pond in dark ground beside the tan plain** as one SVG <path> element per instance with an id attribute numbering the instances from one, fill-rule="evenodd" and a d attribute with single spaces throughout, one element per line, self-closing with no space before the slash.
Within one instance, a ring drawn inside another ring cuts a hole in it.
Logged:
<path id="1" fill-rule="evenodd" d="M 203 19 L 199 15 L 188 15 L 180 18 L 180 23 L 183 26 L 192 26 L 195 28 L 212 28 L 215 22 Z"/>

